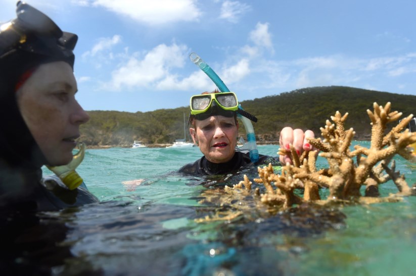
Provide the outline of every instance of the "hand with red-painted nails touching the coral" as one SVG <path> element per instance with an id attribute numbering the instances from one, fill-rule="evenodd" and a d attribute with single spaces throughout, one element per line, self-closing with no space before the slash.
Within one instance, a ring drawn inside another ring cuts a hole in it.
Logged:
<path id="1" fill-rule="evenodd" d="M 311 130 L 303 132 L 301 129 L 292 129 L 291 127 L 285 127 L 280 132 L 279 146 L 280 150 L 286 152 L 285 155 L 280 155 L 279 160 L 282 164 L 289 162 L 292 164 L 292 156 L 290 153 L 290 145 L 296 149 L 298 155 L 301 155 L 303 151 L 316 150 L 311 144 L 309 144 L 307 138 L 314 138 L 315 134 Z"/>

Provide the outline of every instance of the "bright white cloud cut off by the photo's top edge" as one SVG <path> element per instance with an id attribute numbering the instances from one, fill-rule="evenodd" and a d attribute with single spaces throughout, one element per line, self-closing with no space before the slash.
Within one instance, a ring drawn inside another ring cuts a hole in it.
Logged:
<path id="1" fill-rule="evenodd" d="M 196 0 L 90 0 L 90 3 L 149 25 L 197 21 L 201 15 Z"/>

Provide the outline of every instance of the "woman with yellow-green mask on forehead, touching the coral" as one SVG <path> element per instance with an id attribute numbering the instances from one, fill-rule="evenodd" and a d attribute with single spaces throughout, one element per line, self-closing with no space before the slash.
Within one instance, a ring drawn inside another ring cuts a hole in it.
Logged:
<path id="1" fill-rule="evenodd" d="M 279 164 L 276 158 L 261 154 L 259 160 L 253 163 L 249 153 L 236 151 L 239 110 L 237 97 L 232 92 L 204 92 L 191 97 L 190 133 L 204 156 L 194 163 L 184 165 L 179 169 L 180 173 L 195 176 L 219 175 L 252 165 L 269 162 L 273 165 Z M 249 119 L 251 117 L 247 113 L 243 116 L 248 116 Z M 307 143 L 306 137 L 314 137 L 313 132 L 286 127 L 280 135 L 280 146 L 289 149 L 289 144 L 293 144 L 299 152 L 311 150 L 312 147 Z M 291 162 L 289 153 L 280 156 L 280 161 Z"/>

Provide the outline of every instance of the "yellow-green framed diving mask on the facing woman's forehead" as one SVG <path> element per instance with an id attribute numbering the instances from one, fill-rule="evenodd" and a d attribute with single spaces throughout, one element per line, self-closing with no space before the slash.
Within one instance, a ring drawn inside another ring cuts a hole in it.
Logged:
<path id="1" fill-rule="evenodd" d="M 210 93 L 191 97 L 191 114 L 196 115 L 206 112 L 213 100 L 224 110 L 237 111 L 238 109 L 237 96 L 233 92 Z"/>

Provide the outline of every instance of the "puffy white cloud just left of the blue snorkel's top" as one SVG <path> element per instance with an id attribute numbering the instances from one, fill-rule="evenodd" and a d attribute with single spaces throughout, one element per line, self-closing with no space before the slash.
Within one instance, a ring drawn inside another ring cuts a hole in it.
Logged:
<path id="1" fill-rule="evenodd" d="M 150 50 L 140 60 L 131 57 L 126 64 L 112 72 L 112 79 L 102 89 L 134 89 L 139 87 L 158 86 L 160 81 L 169 82 L 175 76 L 173 68 L 181 68 L 186 60 L 187 47 L 173 43 L 170 46 L 160 44 Z M 166 85 L 161 84 L 166 87 Z"/>

